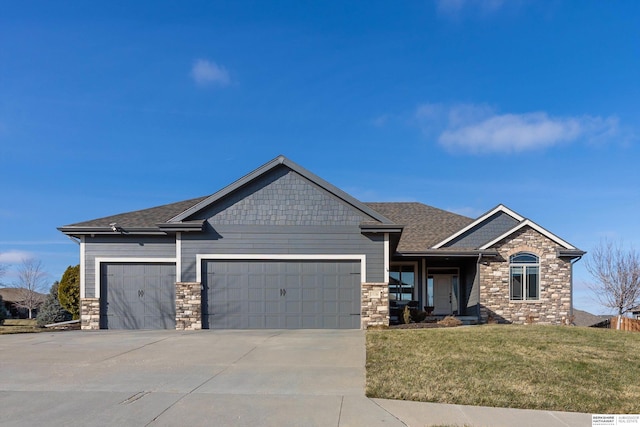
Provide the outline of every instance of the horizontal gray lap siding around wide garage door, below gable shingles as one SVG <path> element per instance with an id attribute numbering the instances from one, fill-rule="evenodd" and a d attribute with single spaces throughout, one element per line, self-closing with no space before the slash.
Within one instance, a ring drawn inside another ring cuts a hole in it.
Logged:
<path id="1" fill-rule="evenodd" d="M 384 280 L 384 237 L 359 227 L 218 226 L 182 235 L 182 280 L 196 280 L 198 254 L 366 255 L 367 281 Z"/>

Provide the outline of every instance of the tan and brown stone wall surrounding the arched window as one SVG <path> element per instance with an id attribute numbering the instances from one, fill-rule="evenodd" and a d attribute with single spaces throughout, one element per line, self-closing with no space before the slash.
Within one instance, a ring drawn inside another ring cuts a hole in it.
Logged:
<path id="1" fill-rule="evenodd" d="M 480 265 L 480 312 L 486 322 L 540 323 L 560 325 L 571 314 L 571 262 L 556 256 L 558 245 L 531 227 L 523 227 L 493 245 L 499 261 Z M 540 299 L 509 300 L 509 256 L 531 252 L 540 258 Z"/>

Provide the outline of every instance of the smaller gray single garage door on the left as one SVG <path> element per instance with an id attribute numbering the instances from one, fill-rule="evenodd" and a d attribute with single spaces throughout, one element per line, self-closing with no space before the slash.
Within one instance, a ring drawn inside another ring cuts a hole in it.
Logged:
<path id="1" fill-rule="evenodd" d="M 102 329 L 175 329 L 174 264 L 102 264 Z"/>

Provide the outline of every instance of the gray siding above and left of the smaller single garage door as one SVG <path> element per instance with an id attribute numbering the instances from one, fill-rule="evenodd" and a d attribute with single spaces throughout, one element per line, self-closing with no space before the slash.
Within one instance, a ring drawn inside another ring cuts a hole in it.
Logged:
<path id="1" fill-rule="evenodd" d="M 96 297 L 95 259 L 175 258 L 174 236 L 87 236 L 85 239 L 85 296 Z"/>

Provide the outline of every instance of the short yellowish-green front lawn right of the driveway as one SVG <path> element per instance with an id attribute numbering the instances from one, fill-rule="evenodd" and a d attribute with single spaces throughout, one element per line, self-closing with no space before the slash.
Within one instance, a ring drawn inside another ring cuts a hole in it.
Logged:
<path id="1" fill-rule="evenodd" d="M 367 332 L 367 396 L 640 412 L 640 333 L 554 326 Z"/>

